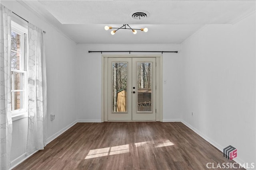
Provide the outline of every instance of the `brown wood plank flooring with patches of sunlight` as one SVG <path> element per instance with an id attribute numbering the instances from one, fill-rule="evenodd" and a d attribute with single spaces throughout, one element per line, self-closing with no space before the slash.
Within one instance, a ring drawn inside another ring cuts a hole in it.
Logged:
<path id="1" fill-rule="evenodd" d="M 180 122 L 77 123 L 14 170 L 207 170 L 208 162 L 234 161 Z"/>

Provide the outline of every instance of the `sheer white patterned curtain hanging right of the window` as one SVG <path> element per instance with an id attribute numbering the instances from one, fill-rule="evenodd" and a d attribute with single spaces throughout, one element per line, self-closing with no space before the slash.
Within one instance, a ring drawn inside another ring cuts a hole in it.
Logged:
<path id="1" fill-rule="evenodd" d="M 43 31 L 28 23 L 28 141 L 26 152 L 46 145 L 46 63 Z"/>

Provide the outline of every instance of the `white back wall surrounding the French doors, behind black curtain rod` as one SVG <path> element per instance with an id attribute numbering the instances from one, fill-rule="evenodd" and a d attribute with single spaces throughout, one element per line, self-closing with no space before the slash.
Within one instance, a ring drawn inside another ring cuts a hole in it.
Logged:
<path id="1" fill-rule="evenodd" d="M 180 45 L 77 45 L 77 97 L 78 117 L 82 120 L 101 120 L 101 53 L 88 51 L 179 51 Z M 111 54 L 111 53 L 104 53 Z M 118 53 L 112 53 L 118 54 Z M 128 53 L 121 53 L 128 54 Z M 131 53 L 146 54 L 146 53 Z M 152 54 L 152 53 L 148 53 Z M 180 53 L 163 53 L 163 119 L 171 121 L 180 119 Z"/>

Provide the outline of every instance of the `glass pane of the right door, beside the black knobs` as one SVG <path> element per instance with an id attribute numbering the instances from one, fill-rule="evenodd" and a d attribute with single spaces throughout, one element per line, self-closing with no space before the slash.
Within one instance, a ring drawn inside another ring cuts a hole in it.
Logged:
<path id="1" fill-rule="evenodd" d="M 137 63 L 137 112 L 152 112 L 152 63 Z"/>

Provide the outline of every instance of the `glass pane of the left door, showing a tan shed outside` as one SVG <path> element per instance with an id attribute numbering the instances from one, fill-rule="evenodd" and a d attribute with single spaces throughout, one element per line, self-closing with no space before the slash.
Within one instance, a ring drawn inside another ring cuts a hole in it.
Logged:
<path id="1" fill-rule="evenodd" d="M 127 112 L 127 63 L 112 62 L 112 112 Z"/>

